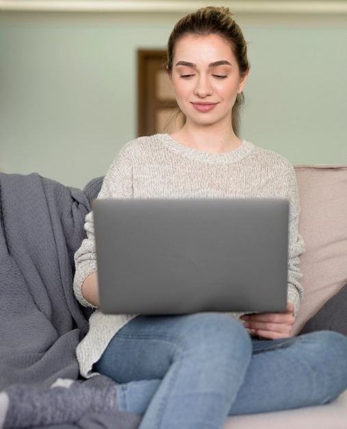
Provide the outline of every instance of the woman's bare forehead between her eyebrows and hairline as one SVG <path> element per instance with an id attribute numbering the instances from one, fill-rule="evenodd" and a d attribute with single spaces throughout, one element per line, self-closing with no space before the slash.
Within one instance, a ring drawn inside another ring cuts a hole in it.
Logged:
<path id="1" fill-rule="evenodd" d="M 183 36 L 176 43 L 173 59 L 174 65 L 180 60 L 194 63 L 210 63 L 220 60 L 235 62 L 235 56 L 229 41 L 218 36 L 218 34 L 209 34 L 207 36 L 187 34 Z"/>

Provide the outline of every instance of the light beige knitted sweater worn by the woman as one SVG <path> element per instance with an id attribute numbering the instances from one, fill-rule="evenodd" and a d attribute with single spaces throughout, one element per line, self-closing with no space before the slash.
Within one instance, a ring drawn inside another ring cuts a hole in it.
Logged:
<path id="1" fill-rule="evenodd" d="M 242 141 L 237 149 L 207 153 L 177 143 L 168 134 L 140 137 L 127 143 L 112 163 L 99 197 L 184 198 L 184 197 L 285 197 L 290 201 L 288 301 L 298 312 L 300 286 L 299 255 L 305 251 L 298 235 L 299 201 L 296 176 L 282 156 Z M 92 212 L 86 216 L 87 238 L 75 254 L 74 291 L 79 302 L 83 280 L 97 271 Z M 77 347 L 82 376 L 92 376 L 114 334 L 136 315 L 104 315 L 95 310 L 90 329 Z M 235 315 L 235 317 L 237 317 Z"/>

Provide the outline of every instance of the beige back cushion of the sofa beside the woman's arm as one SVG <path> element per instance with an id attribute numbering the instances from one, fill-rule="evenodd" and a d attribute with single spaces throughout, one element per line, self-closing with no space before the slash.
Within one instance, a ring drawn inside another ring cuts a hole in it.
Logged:
<path id="1" fill-rule="evenodd" d="M 347 283 L 347 166 L 297 166 L 305 297 L 293 334 Z M 347 305 L 347 304 L 346 304 Z"/>

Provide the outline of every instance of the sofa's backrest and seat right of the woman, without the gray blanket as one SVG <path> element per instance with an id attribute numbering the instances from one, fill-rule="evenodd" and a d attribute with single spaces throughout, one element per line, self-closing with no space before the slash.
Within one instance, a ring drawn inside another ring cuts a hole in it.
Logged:
<path id="1" fill-rule="evenodd" d="M 300 257 L 305 297 L 292 335 L 323 329 L 347 335 L 347 166 L 301 165 L 295 171 L 307 249 Z M 328 405 L 229 417 L 224 425 L 249 428 L 346 429 L 347 390 Z"/>

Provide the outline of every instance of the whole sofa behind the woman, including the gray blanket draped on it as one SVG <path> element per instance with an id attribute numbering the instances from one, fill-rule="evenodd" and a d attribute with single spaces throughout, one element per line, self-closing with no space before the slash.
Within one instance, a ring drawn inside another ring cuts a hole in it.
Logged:
<path id="1" fill-rule="evenodd" d="M 307 251 L 300 258 L 305 297 L 292 334 L 330 329 L 347 335 L 347 166 L 295 170 L 299 232 Z M 18 383 L 50 387 L 66 379 L 88 388 L 110 385 L 103 376 L 80 380 L 75 358 L 90 310 L 73 296 L 73 255 L 101 182 L 92 180 L 79 190 L 35 173 L 0 173 L 0 391 Z M 91 413 L 76 425 L 54 427 L 121 426 L 112 413 Z M 229 417 L 224 425 L 249 428 L 346 429 L 347 391 L 325 406 Z"/>

